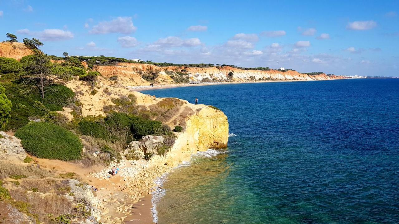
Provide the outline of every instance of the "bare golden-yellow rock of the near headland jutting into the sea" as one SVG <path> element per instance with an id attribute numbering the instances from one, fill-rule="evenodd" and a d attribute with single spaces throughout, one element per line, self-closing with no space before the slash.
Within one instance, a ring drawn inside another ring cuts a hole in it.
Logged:
<path id="1" fill-rule="evenodd" d="M 177 125 L 184 127 L 183 132 L 177 133 L 176 143 L 167 155 L 166 159 L 169 162 L 178 163 L 178 161 L 187 160 L 196 151 L 227 146 L 229 136 L 227 117 L 222 111 L 210 106 L 190 104 L 186 100 L 177 98 L 156 98 L 125 88 L 113 87 L 110 81 L 103 78 L 99 78 L 95 88 L 97 93 L 94 95 L 90 94 L 91 86 L 77 79 L 68 81 L 65 85 L 71 88 L 79 99 L 82 116 L 105 115 L 105 108 L 116 106 L 115 99 L 128 98 L 129 95 L 134 96 L 134 106 L 140 108 L 140 112 L 160 110 L 160 113 L 168 114 L 162 111 L 160 102 L 169 100 L 167 103 L 175 105 L 170 111 L 170 116 L 158 118 L 162 118 L 162 122 L 172 129 Z M 113 109 L 118 110 L 118 108 Z M 72 119 L 72 111 L 73 108 L 65 107 L 60 113 Z"/>

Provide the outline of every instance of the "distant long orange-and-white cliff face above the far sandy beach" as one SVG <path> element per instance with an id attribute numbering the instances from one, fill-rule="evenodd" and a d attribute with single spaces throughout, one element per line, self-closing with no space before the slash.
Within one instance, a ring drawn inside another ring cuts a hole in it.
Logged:
<path id="1" fill-rule="evenodd" d="M 209 81 L 216 82 L 251 82 L 251 81 L 312 81 L 312 80 L 332 80 L 344 79 L 342 76 L 335 75 L 307 75 L 298 73 L 297 71 L 260 71 L 260 70 L 242 70 L 229 66 L 224 67 L 159 67 L 155 65 L 139 64 L 139 63 L 119 63 L 113 66 L 98 66 L 99 71 L 104 77 L 110 78 L 117 76 L 126 86 L 145 86 L 150 83 L 142 78 L 143 74 L 157 73 L 159 76 L 154 79 L 154 84 L 176 84 L 168 71 L 184 72 L 188 74 L 191 81 Z M 229 77 L 229 73 L 233 73 Z"/>

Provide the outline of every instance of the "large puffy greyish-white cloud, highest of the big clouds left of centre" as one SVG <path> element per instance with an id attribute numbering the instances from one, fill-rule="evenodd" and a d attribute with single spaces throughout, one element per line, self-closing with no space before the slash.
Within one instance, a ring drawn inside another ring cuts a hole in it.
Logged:
<path id="1" fill-rule="evenodd" d="M 131 17 L 118 17 L 111 21 L 99 22 L 95 25 L 89 33 L 93 34 L 105 34 L 105 33 L 123 33 L 129 34 L 136 31 L 136 27 L 133 26 Z"/>

